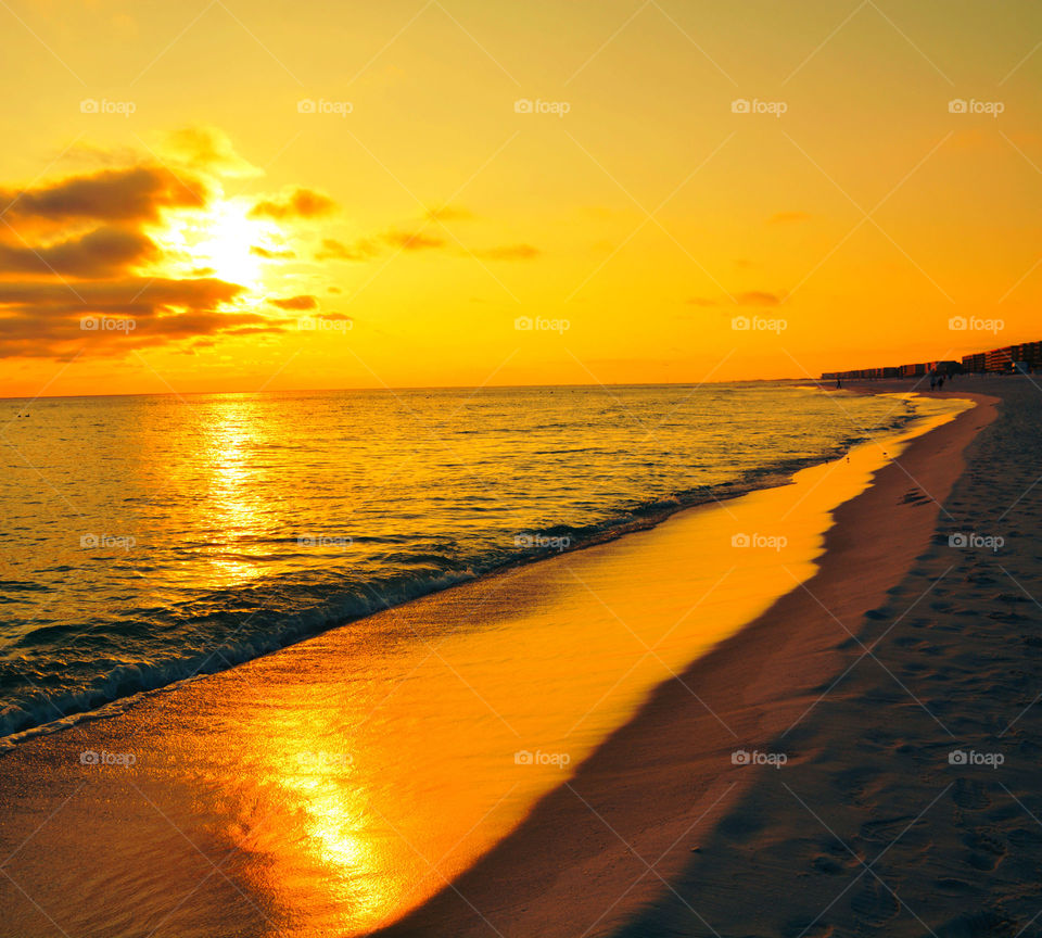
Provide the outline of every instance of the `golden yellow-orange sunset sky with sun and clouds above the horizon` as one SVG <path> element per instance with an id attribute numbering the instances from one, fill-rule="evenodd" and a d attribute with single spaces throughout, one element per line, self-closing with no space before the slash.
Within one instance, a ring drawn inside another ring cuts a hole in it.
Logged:
<path id="1" fill-rule="evenodd" d="M 1042 7 L 5 0 L 0 395 L 1042 339 Z"/>

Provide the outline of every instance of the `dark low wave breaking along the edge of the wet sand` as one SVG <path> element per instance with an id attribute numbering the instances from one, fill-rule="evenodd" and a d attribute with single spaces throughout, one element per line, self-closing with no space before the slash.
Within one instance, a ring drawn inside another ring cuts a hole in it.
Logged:
<path id="1" fill-rule="evenodd" d="M 913 418 L 911 411 L 894 415 L 887 429 L 902 427 Z M 52 672 L 35 673 L 29 656 L 33 651 L 45 651 L 50 655 L 47 663 L 51 668 L 56 666 L 60 673 L 75 674 L 77 666 L 82 667 L 84 662 L 69 658 L 69 651 L 75 649 L 63 646 L 61 639 L 81 637 L 86 634 L 85 623 L 41 622 L 40 628 L 9 645 L 8 655 L 0 659 L 0 688 L 21 687 L 26 680 L 37 688 L 0 709 L 0 750 L 40 733 L 65 728 L 79 720 L 118 712 L 142 693 L 233 668 L 329 629 L 357 622 L 497 570 L 652 528 L 671 515 L 697 505 L 787 484 L 793 472 L 829 461 L 868 435 L 851 434 L 838 441 L 828 453 L 765 465 L 732 482 L 620 505 L 594 523 L 550 523 L 538 530 L 503 532 L 504 536 L 494 542 L 497 546 L 479 557 L 453 556 L 450 552 L 437 549 L 395 549 L 404 546 L 404 538 L 397 537 L 356 537 L 356 543 L 365 541 L 390 548 L 379 559 L 394 567 L 394 572 L 359 580 L 334 570 L 319 571 L 310 572 L 308 575 L 313 579 L 307 582 L 291 584 L 272 576 L 259 587 L 214 591 L 191 605 L 138 609 L 132 617 L 116 622 L 88 622 L 90 641 L 97 646 L 98 655 L 88 663 L 97 673 L 82 674 L 74 689 L 45 689 L 48 673 Z M 280 540 L 293 542 L 293 538 Z M 22 582 L 9 585 L 14 590 L 34 588 L 33 584 Z M 243 620 L 246 625 L 242 624 Z M 178 632 L 186 623 L 192 626 L 189 632 Z M 138 661 L 118 660 L 127 655 L 120 641 L 128 638 L 151 641 L 160 645 L 161 650 L 147 657 L 142 655 Z M 111 657 L 101 657 L 105 652 Z M 104 667 L 106 664 L 109 667 Z"/>

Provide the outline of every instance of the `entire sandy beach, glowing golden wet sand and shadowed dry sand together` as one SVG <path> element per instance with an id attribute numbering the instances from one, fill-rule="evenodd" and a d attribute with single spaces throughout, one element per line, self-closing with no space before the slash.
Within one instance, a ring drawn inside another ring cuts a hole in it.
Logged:
<path id="1" fill-rule="evenodd" d="M 988 790 L 1030 800 L 1024 778 L 948 761 L 1011 745 L 984 738 L 1005 723 L 974 682 L 1030 704 L 1030 672 L 974 674 L 964 643 L 1035 647 L 1006 633 L 1030 619 L 1013 578 L 1030 590 L 1038 559 L 1028 523 L 997 517 L 1021 491 L 1016 511 L 1038 504 L 1037 391 L 965 385 L 926 398 L 951 408 L 928 432 L 792 485 L 18 743 L 0 757 L 15 933 L 798 936 L 844 934 L 848 914 L 922 934 L 893 893 L 931 889 L 915 912 L 964 927 L 980 871 L 1035 842 Z M 1000 533 L 1000 549 L 949 546 Z M 1031 725 L 1003 738 L 1027 751 Z M 960 815 L 933 852 L 930 798 L 911 807 L 930 791 Z"/>

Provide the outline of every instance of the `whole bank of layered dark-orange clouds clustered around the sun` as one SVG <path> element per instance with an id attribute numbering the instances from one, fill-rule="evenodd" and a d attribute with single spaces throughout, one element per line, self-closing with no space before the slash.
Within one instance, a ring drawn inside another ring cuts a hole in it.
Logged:
<path id="1" fill-rule="evenodd" d="M 128 151 L 89 149 L 67 175 L 0 183 L 0 357 L 68 360 L 85 348 L 119 356 L 149 345 L 194 351 L 221 337 L 284 332 L 292 313 L 317 310 L 316 297 L 303 294 L 250 308 L 249 290 L 218 276 L 212 267 L 221 264 L 205 249 L 192 256 L 196 234 L 223 217 L 220 179 L 256 175 L 228 138 L 190 128 L 171 135 L 163 152 L 175 169 Z M 328 195 L 295 187 L 260 199 L 251 216 L 313 218 L 334 208 Z M 278 239 L 250 244 L 241 246 L 256 257 L 294 257 Z M 170 272 L 182 268 L 191 272 Z M 165 276 L 148 276 L 153 271 Z"/>

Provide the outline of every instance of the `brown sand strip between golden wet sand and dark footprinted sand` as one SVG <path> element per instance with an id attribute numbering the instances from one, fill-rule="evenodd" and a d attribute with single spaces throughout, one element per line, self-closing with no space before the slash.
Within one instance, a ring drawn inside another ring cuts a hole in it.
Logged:
<path id="1" fill-rule="evenodd" d="M 877 393 L 897 390 L 881 383 Z M 841 668 L 842 647 L 856 642 L 864 613 L 886 600 L 929 543 L 940 504 L 965 469 L 965 451 L 997 416 L 1000 398 L 962 390 L 931 396 L 969 397 L 978 406 L 914 440 L 898 465 L 878 470 L 867 490 L 836 510 L 818 570 L 802 587 L 678 681 L 660 685 L 521 827 L 378 934 L 610 935 L 663 896 L 697 924 L 700 916 L 671 882 L 758 771 L 775 771 L 736 765 L 733 753 L 770 749 L 813 708 L 817 688 Z M 936 502 L 906 499 L 911 490 Z M 790 763 L 803 758 L 785 755 Z"/>

